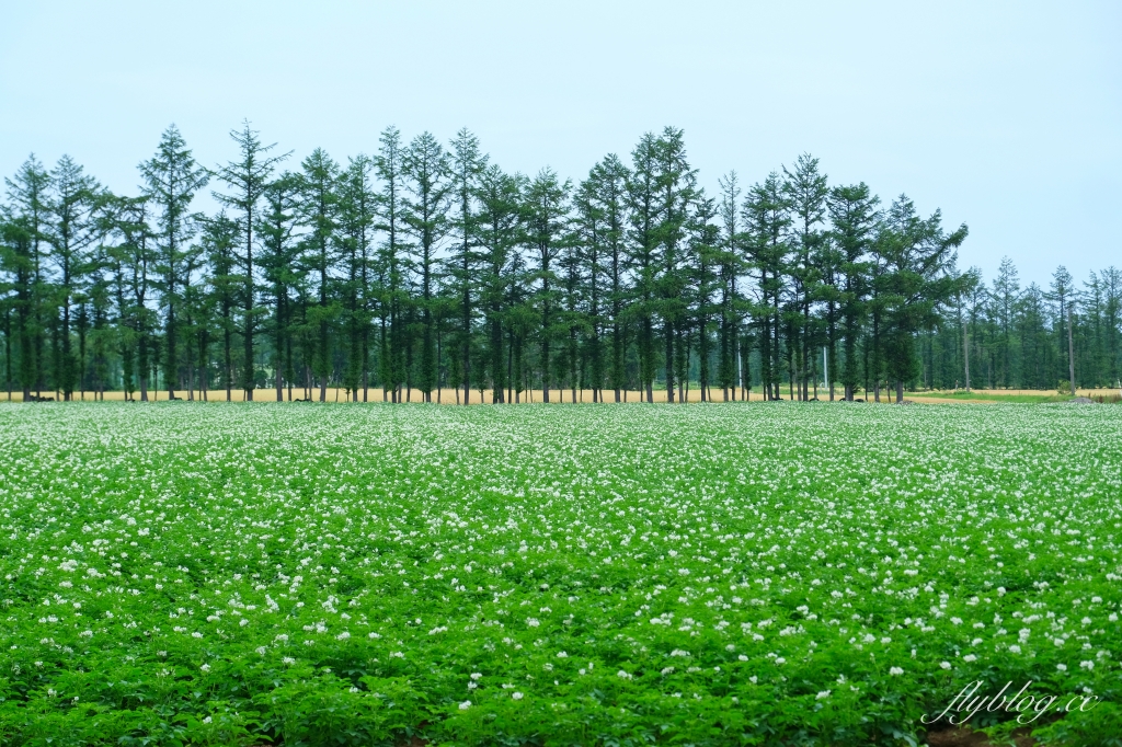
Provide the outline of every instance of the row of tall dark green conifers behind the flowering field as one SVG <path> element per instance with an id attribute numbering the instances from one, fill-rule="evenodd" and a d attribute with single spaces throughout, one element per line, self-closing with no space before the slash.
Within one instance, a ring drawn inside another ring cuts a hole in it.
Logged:
<path id="1" fill-rule="evenodd" d="M 1118 270 L 1022 290 L 1006 262 L 987 287 L 957 268 L 965 224 L 831 186 L 809 155 L 710 195 L 674 128 L 577 183 L 507 173 L 468 130 L 390 127 L 374 155 L 291 168 L 248 122 L 231 138 L 237 157 L 209 168 L 169 127 L 135 195 L 68 156 L 6 179 L 9 398 L 899 400 L 968 386 L 972 354 L 975 384 L 1055 386 L 1068 316 L 1080 381 L 1119 374 Z M 206 188 L 211 214 L 193 210 Z"/>

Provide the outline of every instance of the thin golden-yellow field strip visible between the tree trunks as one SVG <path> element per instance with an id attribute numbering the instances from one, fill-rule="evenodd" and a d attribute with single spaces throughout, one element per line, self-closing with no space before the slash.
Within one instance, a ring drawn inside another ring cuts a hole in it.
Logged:
<path id="1" fill-rule="evenodd" d="M 711 388 L 710 391 L 712 393 L 712 400 L 714 402 L 721 402 L 723 395 L 721 395 L 721 390 L 719 388 Z M 956 393 L 953 393 L 950 390 L 944 390 L 944 391 L 938 391 L 938 390 L 937 391 L 909 391 L 909 393 L 904 394 L 904 397 L 907 399 L 910 399 L 911 402 L 919 403 L 919 404 L 992 404 L 992 403 L 1010 402 L 1014 397 L 1015 398 L 1022 398 L 1022 400 L 1023 400 L 1024 397 L 1040 397 L 1040 398 L 1046 398 L 1046 397 L 1050 397 L 1050 396 L 1055 396 L 1056 395 L 1055 390 L 1041 390 L 1041 389 L 972 389 L 971 393 L 972 393 L 972 396 L 968 399 L 966 399 L 966 398 L 955 398 L 956 397 Z M 459 398 L 460 398 L 459 400 L 457 399 L 457 394 L 459 394 Z M 789 399 L 790 398 L 790 390 L 787 387 L 783 387 L 781 389 L 781 394 L 782 394 L 782 396 L 783 396 L 784 399 Z M 957 394 L 960 395 L 962 390 L 958 390 Z M 1095 396 L 1103 396 L 1103 395 L 1105 395 L 1105 396 L 1118 395 L 1120 393 L 1119 393 L 1118 389 L 1078 389 L 1076 394 L 1078 396 L 1080 396 L 1080 397 L 1095 397 Z M 185 399 L 188 398 L 188 394 L 185 390 L 176 391 L 175 395 L 180 399 L 184 399 L 185 400 Z M 43 396 L 45 396 L 45 397 L 56 397 L 57 398 L 57 394 L 54 393 L 54 391 L 44 391 Z M 139 396 L 140 396 L 139 393 L 135 393 L 134 394 L 134 398 L 136 398 L 136 399 L 139 399 Z M 302 398 L 304 396 L 304 390 L 303 389 L 293 389 L 292 396 L 294 398 Z M 607 390 L 607 389 L 604 390 L 604 396 L 605 396 L 605 400 L 606 402 L 613 402 L 614 395 L 613 395 L 611 390 Z M 813 397 L 813 396 L 815 396 L 815 393 L 813 393 L 813 389 L 811 389 L 811 397 Z M 866 399 L 867 402 L 872 402 L 873 400 L 873 394 L 871 391 L 867 393 L 867 396 L 866 396 L 866 393 L 858 393 L 857 396 Z M 285 399 L 287 399 L 287 397 L 288 397 L 288 394 L 287 394 L 287 390 L 286 390 L 285 391 Z M 368 397 L 369 402 L 383 402 L 383 391 L 381 391 L 381 389 L 374 389 L 374 388 L 371 388 L 367 393 L 367 397 Z M 0 398 L 2 398 L 2 400 L 4 400 L 4 402 L 7 402 L 7 400 L 10 400 L 10 402 L 22 402 L 24 396 L 19 391 L 11 393 L 10 397 L 7 395 L 7 393 L 0 393 Z M 148 398 L 151 399 L 151 400 L 164 402 L 164 400 L 168 399 L 168 395 L 167 395 L 167 391 L 151 391 L 151 390 L 149 390 L 148 391 Z M 320 398 L 320 390 L 319 389 L 313 389 L 312 390 L 312 399 L 315 400 L 315 402 L 319 402 L 319 398 Z M 361 400 L 361 398 L 362 398 L 362 393 L 359 391 L 359 399 Z M 434 403 L 440 403 L 440 404 L 443 404 L 443 405 L 454 405 L 454 404 L 458 404 L 460 400 L 462 400 L 462 398 L 463 398 L 462 390 L 460 390 L 459 393 L 457 393 L 456 390 L 448 389 L 448 388 L 440 389 L 439 391 L 433 391 L 433 395 L 432 395 L 432 400 Z M 636 390 L 634 390 L 634 389 L 633 390 L 628 390 L 626 393 L 623 393 L 623 398 L 624 398 L 625 402 L 628 402 L 628 403 L 642 402 L 640 393 L 636 391 Z M 749 394 L 749 396 L 748 396 L 748 399 L 749 400 L 754 400 L 754 402 L 760 402 L 761 398 L 762 398 L 762 395 L 761 395 L 761 391 L 760 391 L 758 388 L 755 389 L 755 390 L 753 390 Z M 818 398 L 819 399 L 829 399 L 829 393 L 826 389 L 819 389 L 818 390 Z M 840 388 L 838 388 L 838 389 L 835 390 L 835 398 L 837 398 L 837 399 L 842 398 L 842 389 Z M 121 402 L 121 400 L 125 399 L 125 393 L 123 391 L 105 391 L 103 395 L 99 395 L 99 394 L 95 394 L 95 393 L 92 393 L 92 391 L 86 391 L 84 394 L 75 391 L 74 393 L 74 399 L 75 400 L 85 400 L 85 402 L 94 402 L 95 399 L 105 399 L 105 400 L 112 400 L 112 402 Z M 194 399 L 196 399 L 196 400 L 203 399 L 203 396 L 196 390 L 194 393 Z M 212 389 L 212 390 L 209 390 L 206 393 L 205 399 L 208 402 L 226 402 L 226 389 Z M 414 402 L 414 403 L 424 402 L 424 394 L 421 390 L 419 390 L 419 389 L 413 389 L 413 390 L 411 390 L 408 393 L 408 396 L 405 399 L 406 399 L 406 402 Z M 243 400 L 245 400 L 245 393 L 242 390 L 234 389 L 231 393 L 231 402 L 243 402 Z M 337 389 L 337 388 L 329 388 L 328 389 L 327 402 L 344 403 L 346 400 L 347 400 L 347 391 L 344 389 Z M 550 390 L 550 402 L 551 403 L 554 403 L 554 404 L 555 403 L 565 403 L 565 404 L 569 404 L 572 400 L 573 400 L 573 397 L 572 397 L 572 390 L 571 389 L 551 389 Z M 656 403 L 659 403 L 659 402 L 666 402 L 666 390 L 665 389 L 659 389 L 659 388 L 656 388 L 654 390 L 654 400 Z M 677 395 L 675 395 L 675 400 L 677 400 Z M 891 403 L 893 400 L 894 400 L 894 393 L 889 391 L 889 390 L 882 390 L 881 391 L 881 402 L 882 403 Z M 276 402 L 276 390 L 275 389 L 257 389 L 257 390 L 254 391 L 254 402 Z M 491 402 L 491 391 L 489 389 L 485 389 L 484 390 L 482 402 L 486 403 L 486 404 L 490 404 L 490 402 Z M 523 391 L 522 393 L 522 402 L 523 403 L 527 403 L 527 402 L 528 403 L 540 403 L 540 402 L 542 402 L 542 391 L 541 391 L 541 389 L 534 389 L 534 390 L 531 390 L 531 391 Z M 591 391 L 591 389 L 583 389 L 583 390 L 578 389 L 577 390 L 577 402 L 578 403 L 591 403 L 592 402 L 592 391 Z M 688 397 L 687 397 L 687 402 L 701 402 L 701 391 L 700 391 L 700 389 L 697 389 L 697 388 L 690 389 L 689 394 L 688 394 Z M 478 390 L 472 390 L 471 391 L 469 404 L 472 404 L 472 405 L 480 404 L 479 391 Z"/>

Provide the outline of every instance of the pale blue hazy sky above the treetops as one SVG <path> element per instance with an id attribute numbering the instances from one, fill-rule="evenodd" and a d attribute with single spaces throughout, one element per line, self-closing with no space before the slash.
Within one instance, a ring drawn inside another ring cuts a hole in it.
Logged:
<path id="1" fill-rule="evenodd" d="M 265 142 L 334 158 L 473 131 L 494 163 L 579 181 L 682 128 L 710 193 L 819 158 L 907 193 L 962 267 L 1022 284 L 1122 266 L 1122 3 L 18 2 L 0 0 L 0 173 L 70 154 L 135 194 L 175 123 L 200 163 Z M 206 208 L 209 200 L 199 201 Z"/>

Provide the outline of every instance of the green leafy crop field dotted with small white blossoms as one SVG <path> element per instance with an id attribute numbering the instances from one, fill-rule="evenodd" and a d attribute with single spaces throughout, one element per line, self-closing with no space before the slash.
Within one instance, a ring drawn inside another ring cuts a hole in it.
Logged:
<path id="1" fill-rule="evenodd" d="M 0 743 L 903 745 L 1032 680 L 1100 699 L 1033 723 L 1094 744 L 1120 436 L 1061 405 L 4 406 Z"/>

